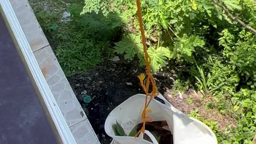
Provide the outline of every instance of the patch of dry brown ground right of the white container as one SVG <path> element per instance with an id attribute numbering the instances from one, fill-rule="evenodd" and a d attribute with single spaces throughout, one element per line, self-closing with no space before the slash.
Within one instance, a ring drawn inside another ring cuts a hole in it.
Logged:
<path id="1" fill-rule="evenodd" d="M 187 92 L 182 94 L 182 98 L 173 96 L 171 90 L 166 90 L 164 97 L 178 110 L 185 114 L 190 114 L 191 111 L 196 110 L 201 118 L 204 120 L 210 120 L 218 123 L 218 129 L 225 130 L 227 126 L 236 126 L 236 119 L 230 114 L 221 113 L 215 106 L 212 109 L 206 108 L 207 102 L 214 104 L 213 97 L 207 96 L 204 98 L 202 93 L 195 92 L 193 89 L 189 89 Z M 190 102 L 188 102 L 190 99 Z"/>

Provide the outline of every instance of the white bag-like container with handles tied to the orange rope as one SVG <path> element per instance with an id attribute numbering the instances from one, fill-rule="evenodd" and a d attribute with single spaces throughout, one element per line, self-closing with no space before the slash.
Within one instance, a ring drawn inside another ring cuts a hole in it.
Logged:
<path id="1" fill-rule="evenodd" d="M 151 116 L 154 121 L 166 120 L 172 132 L 174 144 L 217 144 L 216 136 L 208 126 L 174 108 L 162 95 L 158 98 L 162 99 L 165 104 L 153 99 L 148 106 L 152 112 L 147 116 Z M 144 102 L 145 95 L 136 94 L 110 112 L 105 121 L 105 131 L 114 139 L 113 144 L 158 144 L 149 131 L 146 131 L 146 134 L 153 143 L 144 140 L 143 134 L 140 134 L 138 138 L 115 136 L 112 128 L 117 120 L 128 135 L 134 126 L 142 122 Z"/>

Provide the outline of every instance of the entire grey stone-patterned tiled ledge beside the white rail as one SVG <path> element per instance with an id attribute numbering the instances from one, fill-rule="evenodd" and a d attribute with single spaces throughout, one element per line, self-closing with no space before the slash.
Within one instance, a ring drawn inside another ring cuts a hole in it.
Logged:
<path id="1" fill-rule="evenodd" d="M 10 0 L 54 98 L 78 144 L 100 144 L 27 0 Z"/>

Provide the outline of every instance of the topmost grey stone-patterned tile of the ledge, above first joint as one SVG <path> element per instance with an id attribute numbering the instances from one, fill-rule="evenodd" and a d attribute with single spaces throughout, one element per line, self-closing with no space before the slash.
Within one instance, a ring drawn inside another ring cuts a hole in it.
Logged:
<path id="1" fill-rule="evenodd" d="M 18 18 L 22 30 L 30 44 L 32 51 L 49 45 L 44 32 L 40 28 L 36 16 L 27 0 L 10 0 L 12 8 Z"/>

